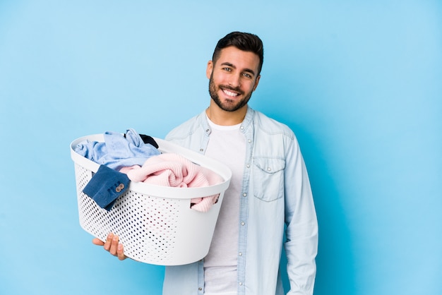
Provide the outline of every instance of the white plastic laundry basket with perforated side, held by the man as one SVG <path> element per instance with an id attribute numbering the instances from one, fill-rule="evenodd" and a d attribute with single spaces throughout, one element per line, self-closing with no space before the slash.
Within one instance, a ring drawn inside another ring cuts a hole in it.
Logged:
<path id="1" fill-rule="evenodd" d="M 124 245 L 129 258 L 154 265 L 184 265 L 207 255 L 224 192 L 232 172 L 220 162 L 155 138 L 161 152 L 174 152 L 195 164 L 220 174 L 224 182 L 201 188 L 175 188 L 131 182 L 129 190 L 114 203 L 112 210 L 102 209 L 83 188 L 100 167 L 74 151 L 83 140 L 104 141 L 102 134 L 78 138 L 71 143 L 75 163 L 80 226 L 92 236 L 106 240 L 113 232 Z M 208 212 L 191 209 L 192 198 L 220 194 Z"/>

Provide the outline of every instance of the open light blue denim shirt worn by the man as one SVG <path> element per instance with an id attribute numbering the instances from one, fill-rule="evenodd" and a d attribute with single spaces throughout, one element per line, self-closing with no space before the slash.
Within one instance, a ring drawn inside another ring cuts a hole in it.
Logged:
<path id="1" fill-rule="evenodd" d="M 318 223 L 297 139 L 287 126 L 250 107 L 240 129 L 246 138 L 246 163 L 238 224 L 238 294 L 284 294 L 278 273 L 282 246 L 288 294 L 313 294 Z M 210 140 L 205 112 L 166 139 L 204 154 Z M 166 267 L 163 294 L 204 294 L 203 260 Z"/>

